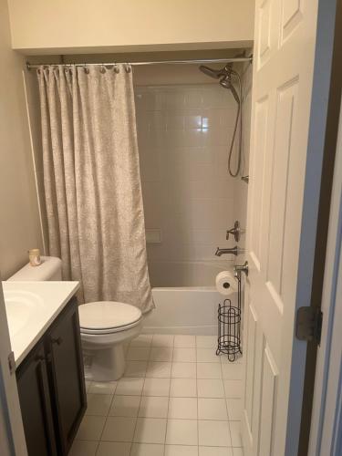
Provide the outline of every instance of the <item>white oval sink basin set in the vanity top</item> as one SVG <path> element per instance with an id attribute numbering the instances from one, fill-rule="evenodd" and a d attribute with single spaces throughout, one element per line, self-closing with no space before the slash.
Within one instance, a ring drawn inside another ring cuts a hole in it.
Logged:
<path id="1" fill-rule="evenodd" d="M 36 311 L 43 308 L 40 296 L 23 290 L 4 290 L 5 311 L 9 334 L 15 337 L 36 318 Z"/>

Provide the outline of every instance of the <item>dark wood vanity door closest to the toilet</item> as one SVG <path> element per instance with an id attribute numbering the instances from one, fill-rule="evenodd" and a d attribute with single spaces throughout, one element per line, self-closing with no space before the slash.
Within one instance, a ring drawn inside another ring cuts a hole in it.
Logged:
<path id="1" fill-rule="evenodd" d="M 67 454 L 87 408 L 78 306 L 70 302 L 46 337 L 59 454 Z"/>

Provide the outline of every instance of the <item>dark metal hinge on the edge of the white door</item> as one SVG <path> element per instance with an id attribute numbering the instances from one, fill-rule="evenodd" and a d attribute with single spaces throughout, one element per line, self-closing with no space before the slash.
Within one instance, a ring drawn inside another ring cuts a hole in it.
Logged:
<path id="1" fill-rule="evenodd" d="M 315 307 L 299 307 L 295 322 L 295 337 L 299 340 L 321 342 L 323 313 Z"/>

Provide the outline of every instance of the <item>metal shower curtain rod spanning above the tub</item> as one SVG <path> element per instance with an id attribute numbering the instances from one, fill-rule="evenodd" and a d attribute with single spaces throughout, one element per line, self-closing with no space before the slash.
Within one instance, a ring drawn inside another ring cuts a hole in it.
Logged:
<path id="1" fill-rule="evenodd" d="M 50 67 L 50 66 L 57 66 L 57 65 L 63 65 L 64 67 L 85 67 L 87 65 L 96 65 L 96 66 L 110 66 L 110 65 L 116 65 L 119 63 L 131 65 L 132 67 L 138 67 L 140 65 L 164 65 L 164 64 L 202 64 L 202 63 L 220 63 L 220 62 L 225 62 L 225 63 L 230 63 L 230 62 L 250 62 L 252 63 L 253 61 L 253 56 L 250 57 L 227 57 L 227 58 L 204 58 L 204 59 L 194 59 L 194 60 L 159 60 L 155 62 L 103 62 L 103 63 L 39 63 L 39 64 L 32 64 L 30 62 L 26 62 L 26 68 L 28 70 L 32 68 L 38 68 L 38 67 Z"/>

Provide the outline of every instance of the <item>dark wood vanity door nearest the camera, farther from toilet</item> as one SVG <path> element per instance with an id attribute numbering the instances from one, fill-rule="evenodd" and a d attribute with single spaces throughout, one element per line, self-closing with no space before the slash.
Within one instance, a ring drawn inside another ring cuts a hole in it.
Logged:
<path id="1" fill-rule="evenodd" d="M 16 379 L 28 456 L 56 456 L 43 344 L 36 346 L 19 366 Z"/>

